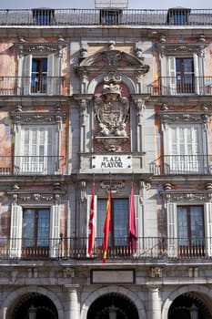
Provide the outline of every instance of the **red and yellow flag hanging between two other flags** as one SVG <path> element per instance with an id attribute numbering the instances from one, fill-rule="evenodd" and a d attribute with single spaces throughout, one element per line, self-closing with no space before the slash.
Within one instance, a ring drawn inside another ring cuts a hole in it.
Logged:
<path id="1" fill-rule="evenodd" d="M 106 201 L 106 220 L 104 224 L 104 241 L 103 241 L 103 263 L 106 262 L 106 252 L 108 247 L 109 232 L 111 231 L 111 194 L 110 190 L 107 192 L 107 201 Z"/>

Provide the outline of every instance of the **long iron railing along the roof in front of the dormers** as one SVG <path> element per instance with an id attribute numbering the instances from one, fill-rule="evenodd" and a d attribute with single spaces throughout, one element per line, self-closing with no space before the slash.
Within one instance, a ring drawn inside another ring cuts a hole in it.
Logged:
<path id="1" fill-rule="evenodd" d="M 106 10 L 105 10 L 106 11 Z M 0 26 L 211 26 L 211 9 L 125 9 L 102 15 L 98 9 L 0 10 Z M 114 10 L 113 10 L 114 11 Z"/>

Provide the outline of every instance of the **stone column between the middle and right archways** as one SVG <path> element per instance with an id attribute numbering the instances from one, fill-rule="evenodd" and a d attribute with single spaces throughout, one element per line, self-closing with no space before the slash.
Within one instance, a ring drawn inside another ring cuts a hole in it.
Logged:
<path id="1" fill-rule="evenodd" d="M 158 287 L 149 287 L 148 289 L 148 319 L 161 319 L 161 302 Z"/>

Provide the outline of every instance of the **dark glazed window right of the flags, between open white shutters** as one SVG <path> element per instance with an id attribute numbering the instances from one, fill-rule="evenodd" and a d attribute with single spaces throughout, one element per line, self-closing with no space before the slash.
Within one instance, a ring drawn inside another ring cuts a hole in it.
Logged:
<path id="1" fill-rule="evenodd" d="M 177 206 L 177 237 L 180 253 L 204 252 L 204 234 L 203 206 Z"/>

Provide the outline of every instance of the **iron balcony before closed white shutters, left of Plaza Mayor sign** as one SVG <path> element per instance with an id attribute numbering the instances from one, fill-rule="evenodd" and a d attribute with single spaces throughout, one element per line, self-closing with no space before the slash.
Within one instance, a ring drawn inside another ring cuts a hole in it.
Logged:
<path id="1" fill-rule="evenodd" d="M 0 156 L 0 176 L 56 175 L 64 168 L 62 156 Z"/>

